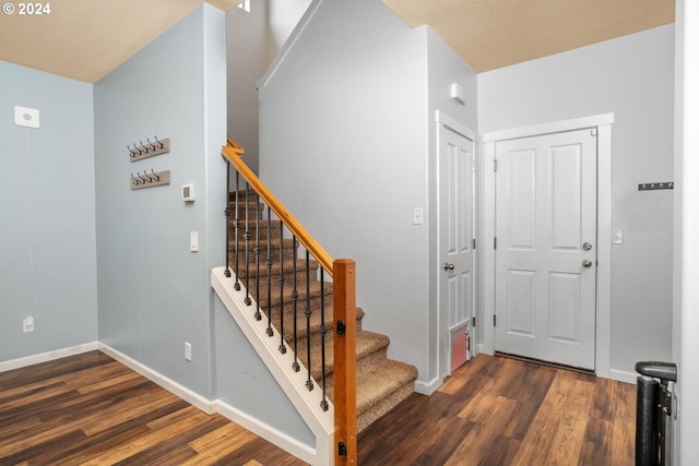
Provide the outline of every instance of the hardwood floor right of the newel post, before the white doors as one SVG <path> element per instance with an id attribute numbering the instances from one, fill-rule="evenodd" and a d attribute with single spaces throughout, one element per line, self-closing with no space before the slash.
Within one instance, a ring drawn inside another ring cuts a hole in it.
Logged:
<path id="1" fill-rule="evenodd" d="M 362 465 L 635 462 L 636 386 L 478 355 L 431 396 L 413 394 L 358 439 Z"/>

